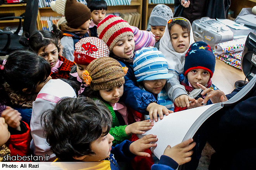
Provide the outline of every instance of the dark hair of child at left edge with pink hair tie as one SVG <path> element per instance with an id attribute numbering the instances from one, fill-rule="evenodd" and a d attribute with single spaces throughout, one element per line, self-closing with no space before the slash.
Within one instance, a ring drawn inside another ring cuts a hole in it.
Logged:
<path id="1" fill-rule="evenodd" d="M 3 60 L 0 60 L 3 63 Z M 47 79 L 51 73 L 51 66 L 47 60 L 31 51 L 14 51 L 9 54 L 1 78 L 15 91 L 33 92 L 36 86 Z"/>

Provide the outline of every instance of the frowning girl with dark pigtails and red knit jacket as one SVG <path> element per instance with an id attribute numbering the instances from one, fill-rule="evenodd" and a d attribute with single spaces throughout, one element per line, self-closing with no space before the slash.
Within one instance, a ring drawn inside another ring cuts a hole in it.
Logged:
<path id="1" fill-rule="evenodd" d="M 74 62 L 59 55 L 61 50 L 59 47 L 59 38 L 61 31 L 57 29 L 57 26 L 52 26 L 53 31 L 36 31 L 35 34 L 29 37 L 22 37 L 20 43 L 24 46 L 28 46 L 35 51 L 39 56 L 46 59 L 51 65 L 51 74 L 53 79 L 57 78 L 69 78 L 70 68 L 74 65 Z M 29 37 L 29 38 L 28 38 Z"/>

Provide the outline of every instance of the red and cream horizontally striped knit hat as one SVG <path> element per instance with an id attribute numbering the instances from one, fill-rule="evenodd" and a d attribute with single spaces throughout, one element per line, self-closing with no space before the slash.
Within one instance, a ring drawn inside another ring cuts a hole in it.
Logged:
<path id="1" fill-rule="evenodd" d="M 108 15 L 97 27 L 99 39 L 102 39 L 112 51 L 116 42 L 125 36 L 133 36 L 131 26 L 121 17 Z"/>

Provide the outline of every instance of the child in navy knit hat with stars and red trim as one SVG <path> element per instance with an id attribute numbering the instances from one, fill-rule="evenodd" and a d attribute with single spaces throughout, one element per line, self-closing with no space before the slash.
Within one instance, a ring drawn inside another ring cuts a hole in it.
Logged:
<path id="1" fill-rule="evenodd" d="M 205 97 L 201 95 L 202 90 L 197 83 L 212 90 L 218 89 L 211 82 L 215 62 L 213 49 L 205 42 L 194 42 L 189 47 L 185 55 L 184 74 L 180 75 L 180 84 L 185 87 L 189 97 L 197 100 L 198 103 L 188 108 L 201 106 Z M 206 104 L 211 104 L 210 100 Z M 175 105 L 174 111 L 177 112 L 184 109 L 186 107 L 177 107 Z"/>

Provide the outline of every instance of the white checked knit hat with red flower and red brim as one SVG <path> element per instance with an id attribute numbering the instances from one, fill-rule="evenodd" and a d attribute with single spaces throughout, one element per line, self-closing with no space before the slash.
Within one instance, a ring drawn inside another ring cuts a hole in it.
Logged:
<path id="1" fill-rule="evenodd" d="M 89 65 L 91 61 L 109 56 L 109 47 L 102 39 L 86 37 L 75 44 L 74 62 L 79 65 Z"/>

